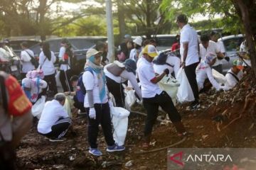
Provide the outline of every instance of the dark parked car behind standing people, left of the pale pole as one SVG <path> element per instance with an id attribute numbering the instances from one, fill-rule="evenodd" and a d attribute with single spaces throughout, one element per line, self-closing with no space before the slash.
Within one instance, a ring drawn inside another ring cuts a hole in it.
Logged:
<path id="1" fill-rule="evenodd" d="M 60 50 L 60 42 L 63 38 L 51 38 L 47 40 L 50 44 L 50 50 L 55 53 L 55 56 L 58 57 Z M 73 74 L 80 74 L 83 68 L 85 67 L 86 62 L 86 52 L 89 48 L 95 47 L 97 41 L 105 42 L 106 37 L 73 37 L 67 38 L 73 47 L 74 58 L 72 60 L 73 64 Z M 39 56 L 41 49 L 40 45 L 34 45 L 30 47 L 31 50 L 35 53 L 36 56 Z"/>

